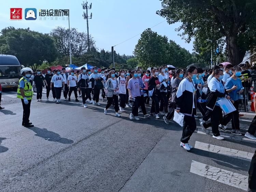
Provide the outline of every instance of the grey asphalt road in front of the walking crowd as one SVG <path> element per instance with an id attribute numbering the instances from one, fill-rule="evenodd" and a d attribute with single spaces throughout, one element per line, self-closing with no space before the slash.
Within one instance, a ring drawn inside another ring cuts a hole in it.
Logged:
<path id="1" fill-rule="evenodd" d="M 30 121 L 35 127 L 28 129 L 21 125 L 15 92 L 4 91 L 0 191 L 236 192 L 247 187 L 256 142 L 243 136 L 222 133 L 225 141 L 218 141 L 211 131 L 197 129 L 190 139 L 196 146 L 187 152 L 180 147 L 182 129 L 173 121 L 167 125 L 162 118 L 143 119 L 141 113 L 140 121 L 131 121 L 129 112 L 114 117 L 113 109 L 105 115 L 105 102 L 84 108 L 81 98 L 64 101 L 63 93 L 60 104 L 52 98 L 46 102 L 45 89 L 43 101 L 33 97 Z M 240 124 L 246 132 L 250 119 Z M 208 174 L 211 170 L 214 174 Z"/>

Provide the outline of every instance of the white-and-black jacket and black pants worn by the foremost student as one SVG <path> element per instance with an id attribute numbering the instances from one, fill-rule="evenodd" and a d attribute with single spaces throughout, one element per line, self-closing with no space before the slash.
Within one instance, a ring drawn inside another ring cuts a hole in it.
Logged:
<path id="1" fill-rule="evenodd" d="M 184 115 L 181 142 L 188 143 L 197 127 L 194 117 L 196 115 L 196 88 L 188 78 L 183 79 L 178 87 L 175 106 Z"/>

